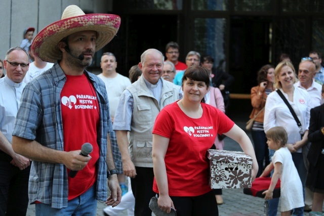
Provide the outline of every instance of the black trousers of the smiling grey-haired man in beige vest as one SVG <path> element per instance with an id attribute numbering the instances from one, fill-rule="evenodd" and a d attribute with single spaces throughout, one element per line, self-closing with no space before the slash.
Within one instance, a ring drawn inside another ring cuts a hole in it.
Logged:
<path id="1" fill-rule="evenodd" d="M 148 207 L 150 199 L 155 196 L 153 192 L 154 173 L 153 168 L 135 166 L 137 176 L 131 178 L 132 191 L 135 197 L 135 216 L 151 216 L 152 211 Z"/>

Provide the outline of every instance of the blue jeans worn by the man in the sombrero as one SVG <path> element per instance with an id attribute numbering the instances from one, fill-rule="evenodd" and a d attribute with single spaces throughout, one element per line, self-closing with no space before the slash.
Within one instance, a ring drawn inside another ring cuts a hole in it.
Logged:
<path id="1" fill-rule="evenodd" d="M 71 199 L 67 203 L 67 207 L 64 208 L 52 208 L 49 204 L 36 203 L 35 215 L 97 215 L 97 200 L 96 200 L 96 183 L 89 188 L 85 193 Z"/>

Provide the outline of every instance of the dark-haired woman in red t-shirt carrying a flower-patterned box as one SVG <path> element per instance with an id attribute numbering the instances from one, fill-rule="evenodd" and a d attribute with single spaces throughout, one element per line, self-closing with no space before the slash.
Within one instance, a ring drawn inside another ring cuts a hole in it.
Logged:
<path id="1" fill-rule="evenodd" d="M 180 216 L 218 215 L 206 156 L 217 134 L 232 138 L 253 158 L 252 180 L 258 171 L 249 137 L 222 111 L 205 104 L 209 83 L 203 67 L 186 69 L 183 98 L 161 110 L 153 127 L 153 191 L 160 209 L 170 212 L 173 207 Z"/>

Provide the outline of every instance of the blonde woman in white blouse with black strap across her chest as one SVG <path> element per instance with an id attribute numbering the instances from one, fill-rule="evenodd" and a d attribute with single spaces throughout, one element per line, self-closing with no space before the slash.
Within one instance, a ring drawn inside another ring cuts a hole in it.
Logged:
<path id="1" fill-rule="evenodd" d="M 292 153 L 293 161 L 297 168 L 299 177 L 303 184 L 303 191 L 306 181 L 306 167 L 303 162 L 302 146 L 307 143 L 308 126 L 310 118 L 311 100 L 305 90 L 295 88 L 294 83 L 297 82 L 295 68 L 291 62 L 280 62 L 274 70 L 274 87 L 284 94 L 294 109 L 301 128 L 298 127 L 293 115 L 285 102 L 281 99 L 276 91 L 269 94 L 264 113 L 264 132 L 266 133 L 271 127 L 282 126 L 288 134 L 287 147 Z M 303 134 L 303 138 L 301 138 Z M 271 154 L 271 153 L 270 153 Z M 273 154 L 273 152 L 272 152 Z M 272 156 L 272 155 L 271 155 Z M 269 215 L 273 215 L 277 209 L 269 203 Z M 294 215 L 303 215 L 304 207 L 294 209 Z M 271 212 L 271 213 L 270 213 Z M 276 214 L 274 214 L 276 215 Z"/>

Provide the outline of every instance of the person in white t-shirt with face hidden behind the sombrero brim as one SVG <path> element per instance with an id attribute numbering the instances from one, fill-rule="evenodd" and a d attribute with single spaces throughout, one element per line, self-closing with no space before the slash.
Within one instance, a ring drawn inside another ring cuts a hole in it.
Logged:
<path id="1" fill-rule="evenodd" d="M 50 69 L 54 65 L 54 63 L 45 62 L 36 56 L 34 58 L 35 61 L 29 64 L 29 69 L 24 78 L 24 82 L 26 83 L 28 83 L 30 80 L 43 73 L 44 71 Z"/>

